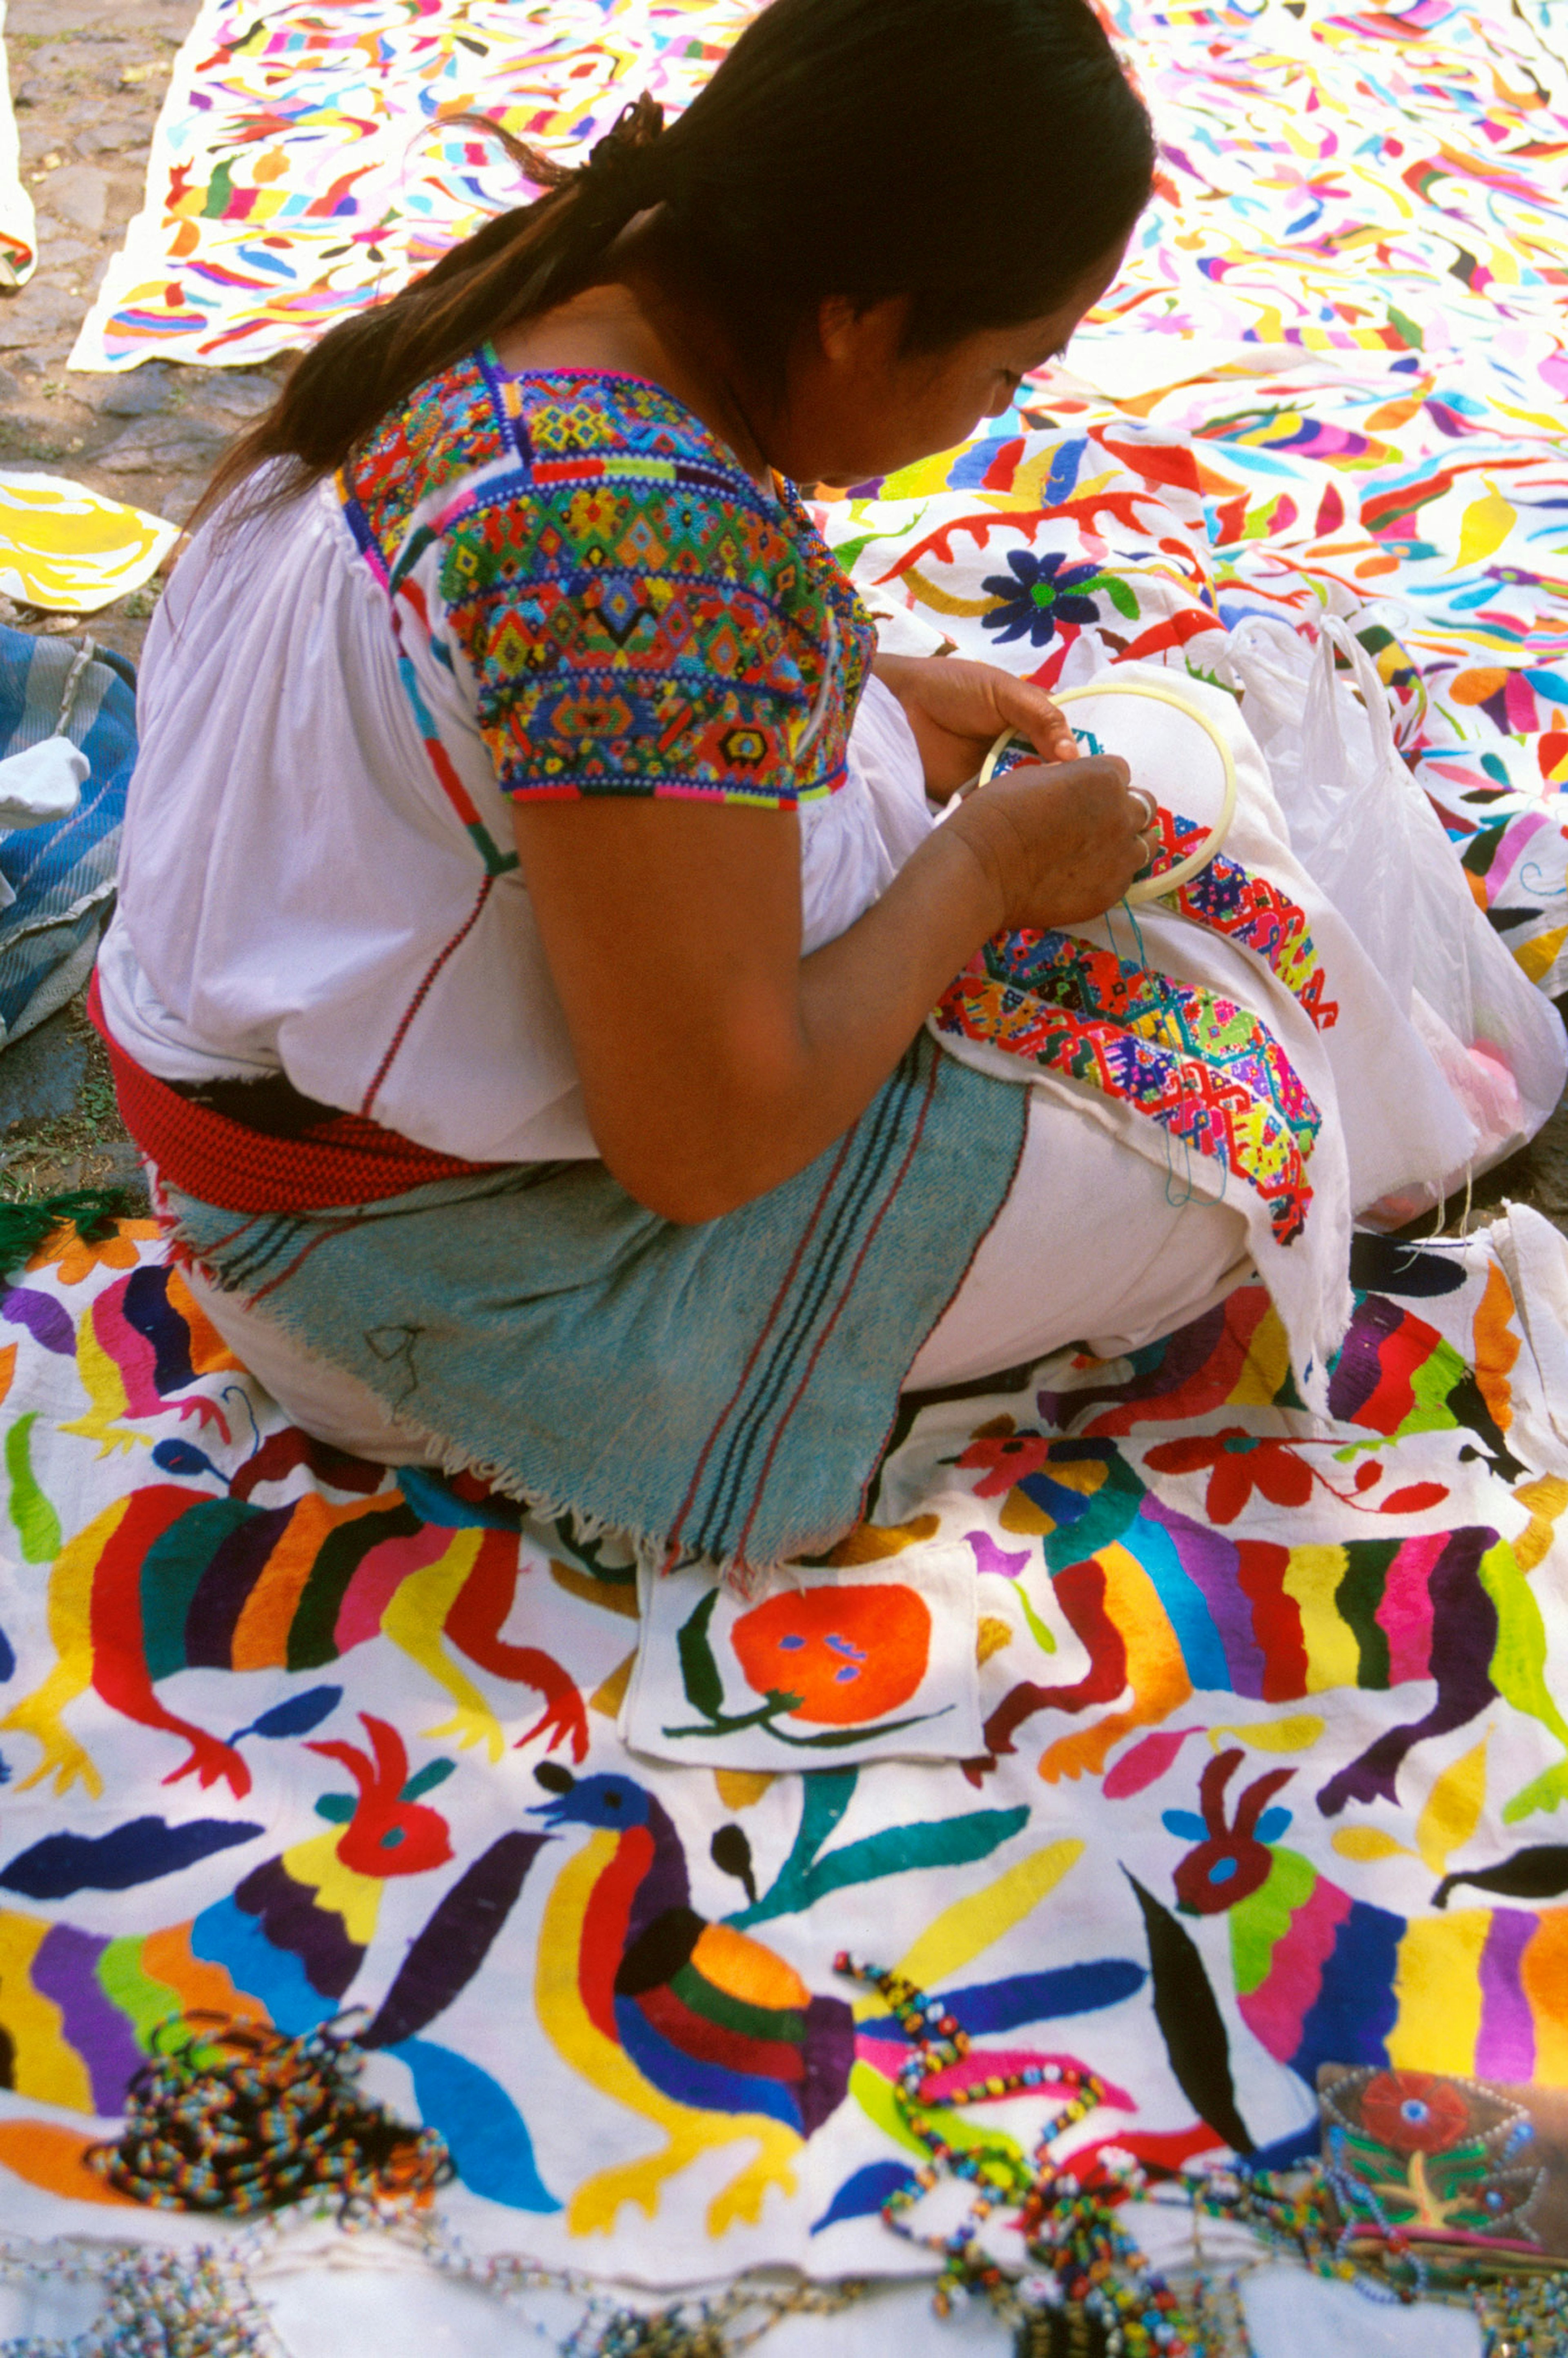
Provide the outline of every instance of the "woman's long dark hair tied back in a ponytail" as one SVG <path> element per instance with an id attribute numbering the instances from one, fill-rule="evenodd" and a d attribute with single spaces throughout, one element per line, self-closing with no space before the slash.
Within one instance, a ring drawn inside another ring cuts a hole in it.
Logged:
<path id="1" fill-rule="evenodd" d="M 1155 160 L 1089 0 L 771 0 L 667 130 L 637 99 L 578 170 L 483 127 L 547 193 L 332 328 L 203 512 L 266 460 L 295 462 L 283 490 L 340 467 L 427 377 L 604 276 L 648 208 L 776 375 L 830 295 L 905 295 L 910 349 L 1052 311 L 1129 233 Z"/>

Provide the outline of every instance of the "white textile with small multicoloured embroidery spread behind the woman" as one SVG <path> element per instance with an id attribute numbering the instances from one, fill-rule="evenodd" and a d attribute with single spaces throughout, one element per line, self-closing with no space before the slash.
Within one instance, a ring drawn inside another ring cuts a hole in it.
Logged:
<path id="1" fill-rule="evenodd" d="M 971 656 L 1207 670 L 1243 613 L 1356 615 L 1493 924 L 1568 988 L 1568 637 L 1549 0 L 1398 9 L 1111 0 L 1162 196 L 1111 314 L 988 434 L 835 498 L 875 606 Z M 637 90 L 707 78 L 743 0 L 205 0 L 87 368 L 248 363 L 516 200 L 483 106 L 564 160 Z M 1026 160 L 1019 165 L 1026 170 Z M 1389 604 L 1382 604 L 1389 599 Z M 1205 646 L 1207 637 L 1207 646 Z M 1080 677 L 1080 672 L 1073 672 Z"/>

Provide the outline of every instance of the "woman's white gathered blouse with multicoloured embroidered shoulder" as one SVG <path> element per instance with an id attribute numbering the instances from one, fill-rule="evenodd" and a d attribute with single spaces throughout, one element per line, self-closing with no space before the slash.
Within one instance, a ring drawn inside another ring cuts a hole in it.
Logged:
<path id="1" fill-rule="evenodd" d="M 879 804 L 849 759 L 865 686 L 872 736 L 908 736 L 870 644 L 795 493 L 670 394 L 465 358 L 182 556 L 108 1028 L 163 1080 L 283 1071 L 460 1162 L 592 1160 L 509 797 L 799 804 L 816 948 L 927 823 L 920 780 L 884 764 Z"/>

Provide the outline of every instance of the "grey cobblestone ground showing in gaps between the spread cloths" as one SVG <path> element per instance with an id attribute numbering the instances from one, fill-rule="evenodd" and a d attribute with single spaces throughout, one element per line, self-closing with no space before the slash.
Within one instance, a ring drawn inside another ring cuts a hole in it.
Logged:
<path id="1" fill-rule="evenodd" d="M 141 203 L 146 149 L 193 0 L 9 0 L 7 50 L 40 266 L 0 295 L 0 467 L 78 476 L 174 523 L 226 441 L 271 401 L 285 363 L 71 375 L 87 304 Z M 80 637 L 139 660 L 156 587 L 83 620 L 0 599 L 0 623 Z M 80 1002 L 0 1054 L 0 1196 L 137 1179 L 108 1066 Z M 1535 1144 L 1476 1184 L 1471 1217 L 1504 1198 L 1568 1233 L 1568 1099 Z M 1457 1226 L 1462 1203 L 1448 1205 Z"/>

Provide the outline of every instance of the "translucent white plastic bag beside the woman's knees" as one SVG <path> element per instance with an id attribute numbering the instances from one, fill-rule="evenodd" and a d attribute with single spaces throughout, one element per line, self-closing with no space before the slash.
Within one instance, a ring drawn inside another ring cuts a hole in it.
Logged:
<path id="1" fill-rule="evenodd" d="M 1394 743 L 1365 646 L 1339 615 L 1320 615 L 1316 630 L 1311 646 L 1280 615 L 1247 615 L 1217 670 L 1243 691 L 1297 858 L 1431 1049 L 1478 1132 L 1471 1170 L 1483 1172 L 1556 1108 L 1568 1080 L 1563 1023 L 1476 905 Z M 1403 1217 L 1419 1210 L 1412 1203 Z"/>

